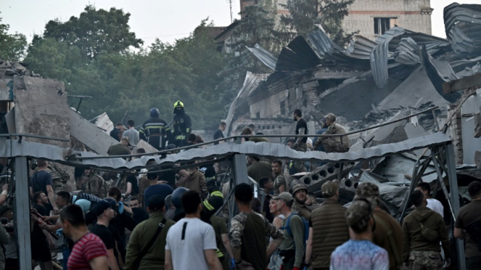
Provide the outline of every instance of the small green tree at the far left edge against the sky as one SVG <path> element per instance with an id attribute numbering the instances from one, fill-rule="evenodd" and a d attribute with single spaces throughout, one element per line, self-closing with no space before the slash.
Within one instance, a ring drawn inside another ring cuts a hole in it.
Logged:
<path id="1" fill-rule="evenodd" d="M 9 34 L 10 25 L 3 24 L 0 18 L 0 57 L 4 60 L 19 61 L 25 55 L 27 38 L 24 34 Z"/>

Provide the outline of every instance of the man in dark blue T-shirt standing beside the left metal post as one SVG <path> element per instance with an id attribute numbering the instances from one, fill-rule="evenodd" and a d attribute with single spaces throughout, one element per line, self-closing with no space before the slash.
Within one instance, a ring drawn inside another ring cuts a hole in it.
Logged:
<path id="1" fill-rule="evenodd" d="M 49 197 L 49 204 L 46 205 L 48 212 L 58 211 L 55 205 L 55 194 L 53 189 L 52 175 L 47 171 L 49 163 L 46 160 L 37 161 L 37 171 L 30 178 L 30 196 L 35 192 L 42 191 Z"/>

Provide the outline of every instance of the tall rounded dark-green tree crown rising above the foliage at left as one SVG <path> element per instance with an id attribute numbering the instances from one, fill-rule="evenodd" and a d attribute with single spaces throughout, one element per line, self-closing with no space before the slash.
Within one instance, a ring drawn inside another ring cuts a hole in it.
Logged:
<path id="1" fill-rule="evenodd" d="M 96 10 L 90 5 L 78 18 L 72 16 L 67 22 L 49 21 L 43 38 L 52 37 L 74 45 L 91 59 L 101 51 L 125 53 L 131 46 L 140 48 L 143 44 L 130 31 L 129 19 L 130 13 L 124 13 L 122 9 Z"/>

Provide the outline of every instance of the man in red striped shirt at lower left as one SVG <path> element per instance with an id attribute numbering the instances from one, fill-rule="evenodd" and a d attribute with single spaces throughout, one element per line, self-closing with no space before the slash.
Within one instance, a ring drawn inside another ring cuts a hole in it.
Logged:
<path id="1" fill-rule="evenodd" d="M 75 245 L 68 257 L 67 268 L 108 270 L 107 250 L 100 238 L 89 232 L 84 211 L 77 205 L 68 205 L 60 211 L 60 221 L 65 236 Z"/>

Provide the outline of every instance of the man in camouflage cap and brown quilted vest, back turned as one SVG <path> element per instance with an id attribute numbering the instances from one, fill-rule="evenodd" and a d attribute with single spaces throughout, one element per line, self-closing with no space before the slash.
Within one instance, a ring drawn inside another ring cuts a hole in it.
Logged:
<path id="1" fill-rule="evenodd" d="M 331 253 L 349 240 L 346 208 L 339 204 L 339 182 L 327 181 L 321 187 L 326 200 L 312 211 L 305 264 L 313 269 L 329 269 Z M 328 218 L 327 218 L 328 217 Z"/>

